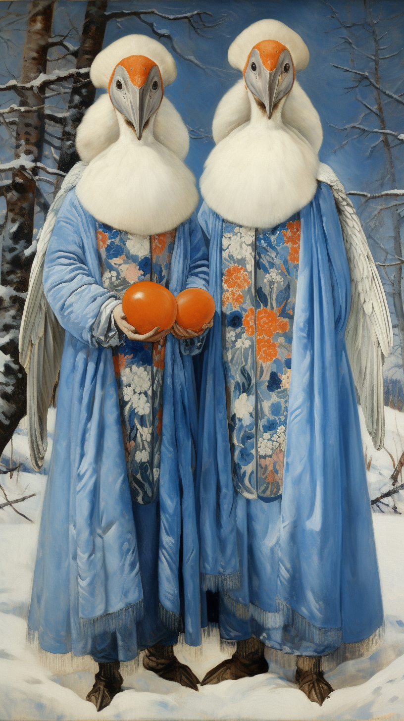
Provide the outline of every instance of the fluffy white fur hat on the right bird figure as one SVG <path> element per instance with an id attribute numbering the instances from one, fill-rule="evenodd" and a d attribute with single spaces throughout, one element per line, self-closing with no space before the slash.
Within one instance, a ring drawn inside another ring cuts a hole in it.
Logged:
<path id="1" fill-rule="evenodd" d="M 240 32 L 240 35 L 237 35 L 227 54 L 230 65 L 242 71 L 252 48 L 261 40 L 278 40 L 278 43 L 286 45 L 297 73 L 307 66 L 309 50 L 300 35 L 297 35 L 297 32 L 291 30 L 284 22 L 271 19 L 253 22 L 253 25 L 246 27 Z"/>

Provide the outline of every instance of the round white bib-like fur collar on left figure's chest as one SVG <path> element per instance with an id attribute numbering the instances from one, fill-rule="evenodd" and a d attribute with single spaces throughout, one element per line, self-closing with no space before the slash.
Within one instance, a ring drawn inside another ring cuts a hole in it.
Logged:
<path id="1" fill-rule="evenodd" d="M 176 228 L 198 205 L 190 169 L 153 134 L 156 115 L 141 140 L 118 115 L 120 136 L 84 170 L 76 194 L 98 221 L 138 235 Z"/>

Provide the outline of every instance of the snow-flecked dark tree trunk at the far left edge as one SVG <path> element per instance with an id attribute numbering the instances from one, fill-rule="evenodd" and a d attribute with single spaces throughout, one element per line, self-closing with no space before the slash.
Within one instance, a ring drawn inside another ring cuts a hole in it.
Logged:
<path id="1" fill-rule="evenodd" d="M 32 0 L 22 58 L 22 83 L 28 83 L 41 73 L 46 73 L 52 18 L 53 2 Z M 17 92 L 20 107 L 38 107 L 44 103 L 45 86 L 18 89 Z M 14 159 L 40 161 L 45 133 L 44 118 L 43 108 L 19 114 Z M 35 170 L 32 173 L 35 174 Z M 4 338 L 0 348 L 6 358 L 1 355 L 4 366 L 0 371 L 0 454 L 26 412 L 27 379 L 24 369 L 19 365 L 18 335 L 33 260 L 33 255 L 26 252 L 32 244 L 35 189 L 32 175 L 16 169 L 4 193 L 7 206 L 1 262 L 4 291 L 0 298 L 0 328 Z"/>

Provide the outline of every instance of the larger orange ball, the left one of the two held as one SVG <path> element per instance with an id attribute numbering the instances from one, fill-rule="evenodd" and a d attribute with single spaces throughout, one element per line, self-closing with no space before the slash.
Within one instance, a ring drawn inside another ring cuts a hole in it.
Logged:
<path id="1" fill-rule="evenodd" d="M 133 283 L 122 298 L 123 312 L 140 335 L 157 326 L 171 328 L 177 316 L 177 303 L 171 291 L 151 280 Z"/>

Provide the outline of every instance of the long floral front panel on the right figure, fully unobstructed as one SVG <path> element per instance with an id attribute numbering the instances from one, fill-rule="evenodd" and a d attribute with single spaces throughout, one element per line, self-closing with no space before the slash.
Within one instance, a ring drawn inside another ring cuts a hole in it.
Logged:
<path id="1" fill-rule="evenodd" d="M 223 354 L 234 487 L 282 492 L 299 272 L 299 213 L 276 228 L 224 223 Z"/>

